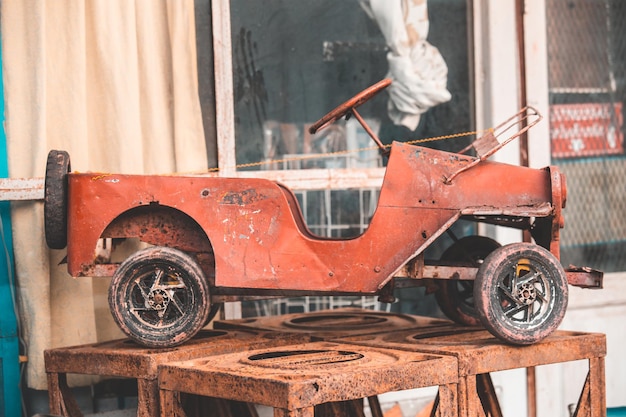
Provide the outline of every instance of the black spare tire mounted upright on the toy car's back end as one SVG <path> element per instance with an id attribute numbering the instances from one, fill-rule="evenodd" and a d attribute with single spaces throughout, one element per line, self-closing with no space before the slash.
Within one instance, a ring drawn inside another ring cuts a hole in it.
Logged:
<path id="1" fill-rule="evenodd" d="M 67 174 L 70 169 L 70 155 L 67 152 L 48 152 L 43 213 L 46 244 L 51 249 L 67 246 Z"/>

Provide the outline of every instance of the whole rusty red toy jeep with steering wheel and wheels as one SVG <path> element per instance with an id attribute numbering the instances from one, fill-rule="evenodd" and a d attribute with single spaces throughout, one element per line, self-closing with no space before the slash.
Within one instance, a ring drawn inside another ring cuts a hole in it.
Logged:
<path id="1" fill-rule="evenodd" d="M 67 152 L 51 151 L 47 243 L 67 246 L 70 275 L 112 277 L 115 321 L 152 347 L 188 340 L 224 301 L 304 294 L 389 298 L 398 277 L 436 288 L 442 310 L 457 322 L 480 321 L 514 344 L 546 337 L 563 318 L 568 284 L 601 287 L 602 274 L 565 271 L 560 264 L 566 186 L 556 167 L 487 160 L 540 116 L 524 109 L 507 121 L 521 126 L 516 134 L 499 142 L 497 129 L 489 131 L 459 153 L 399 142 L 389 152 L 356 110 L 389 83 L 369 87 L 311 127 L 315 132 L 353 115 L 388 152 L 376 211 L 358 237 L 314 235 L 294 193 L 271 180 L 72 173 Z M 535 243 L 500 246 L 468 236 L 439 262 L 426 262 L 424 250 L 459 219 L 526 230 Z M 112 261 L 111 243 L 130 238 L 147 247 Z"/>

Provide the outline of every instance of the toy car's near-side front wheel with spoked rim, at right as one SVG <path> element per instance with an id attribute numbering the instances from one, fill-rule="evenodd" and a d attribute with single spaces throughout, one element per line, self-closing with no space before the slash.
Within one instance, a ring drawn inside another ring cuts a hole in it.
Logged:
<path id="1" fill-rule="evenodd" d="M 567 277 L 560 262 L 541 246 L 513 243 L 496 249 L 474 283 L 476 311 L 499 339 L 529 345 L 549 336 L 567 309 Z"/>

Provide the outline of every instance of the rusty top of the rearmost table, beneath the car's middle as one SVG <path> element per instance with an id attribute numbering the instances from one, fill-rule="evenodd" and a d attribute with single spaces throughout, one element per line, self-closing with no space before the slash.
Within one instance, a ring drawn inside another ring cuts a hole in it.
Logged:
<path id="1" fill-rule="evenodd" d="M 313 313 L 218 320 L 214 322 L 214 327 L 303 333 L 310 335 L 313 340 L 327 340 L 392 330 L 430 328 L 449 323 L 449 320 L 444 319 L 347 307 Z"/>

